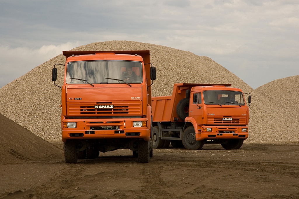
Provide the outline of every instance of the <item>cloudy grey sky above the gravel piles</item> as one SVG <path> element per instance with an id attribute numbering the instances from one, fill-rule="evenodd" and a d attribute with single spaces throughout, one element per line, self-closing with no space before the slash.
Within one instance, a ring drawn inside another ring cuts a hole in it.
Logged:
<path id="1" fill-rule="evenodd" d="M 208 56 L 255 89 L 299 75 L 299 1 L 0 0 L 0 88 L 63 50 L 112 40 Z"/>

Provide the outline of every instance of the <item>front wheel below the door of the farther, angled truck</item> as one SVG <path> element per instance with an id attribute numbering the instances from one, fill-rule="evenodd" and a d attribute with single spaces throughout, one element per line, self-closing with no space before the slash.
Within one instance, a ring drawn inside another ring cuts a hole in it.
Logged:
<path id="1" fill-rule="evenodd" d="M 204 141 L 196 141 L 193 126 L 187 127 L 182 135 L 182 143 L 186 149 L 199 150 L 204 146 Z"/>

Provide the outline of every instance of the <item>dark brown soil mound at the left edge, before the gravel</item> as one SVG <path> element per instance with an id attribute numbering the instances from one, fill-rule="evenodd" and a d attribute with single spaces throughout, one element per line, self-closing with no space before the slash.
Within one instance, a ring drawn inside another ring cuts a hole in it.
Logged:
<path id="1" fill-rule="evenodd" d="M 62 160 L 63 152 L 0 114 L 0 163 Z"/>

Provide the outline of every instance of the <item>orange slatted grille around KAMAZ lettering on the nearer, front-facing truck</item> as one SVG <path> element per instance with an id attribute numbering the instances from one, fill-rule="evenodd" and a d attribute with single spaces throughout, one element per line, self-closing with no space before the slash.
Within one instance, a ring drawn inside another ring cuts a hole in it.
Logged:
<path id="1" fill-rule="evenodd" d="M 141 114 L 141 102 L 68 102 L 68 116 L 91 115 L 138 115 Z M 95 105 L 113 105 L 113 108 L 95 108 Z"/>

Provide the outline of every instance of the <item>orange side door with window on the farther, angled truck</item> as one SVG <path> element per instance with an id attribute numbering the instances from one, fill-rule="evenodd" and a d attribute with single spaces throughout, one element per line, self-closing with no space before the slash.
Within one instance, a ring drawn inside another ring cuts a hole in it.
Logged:
<path id="1" fill-rule="evenodd" d="M 189 117 L 193 117 L 197 124 L 202 124 L 202 94 L 194 92 L 190 95 Z"/>

